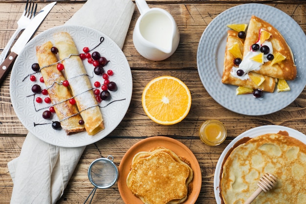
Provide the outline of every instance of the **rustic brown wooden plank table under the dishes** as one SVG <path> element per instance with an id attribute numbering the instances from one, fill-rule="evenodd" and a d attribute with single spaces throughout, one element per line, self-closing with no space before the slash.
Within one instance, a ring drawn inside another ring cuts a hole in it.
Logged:
<path id="1" fill-rule="evenodd" d="M 39 2 L 39 9 L 48 3 L 46 1 L 36 0 Z M 264 2 L 263 0 L 251 1 Z M 58 0 L 36 34 L 54 26 L 63 25 L 82 7 L 84 2 Z M 247 116 L 233 113 L 220 106 L 207 93 L 200 81 L 197 72 L 197 45 L 204 29 L 221 12 L 245 2 L 243 0 L 148 0 L 150 7 L 168 10 L 174 16 L 180 31 L 180 44 L 176 52 L 161 62 L 144 59 L 134 48 L 132 33 L 140 15 L 135 8 L 123 47 L 133 78 L 131 105 L 123 121 L 109 136 L 87 146 L 58 204 L 84 202 L 93 187 L 87 178 L 87 168 L 94 159 L 112 155 L 114 161 L 119 164 L 133 144 L 149 136 L 173 137 L 188 146 L 197 157 L 202 172 L 202 187 L 197 203 L 216 203 L 213 187 L 215 166 L 226 145 L 236 136 L 262 125 L 287 126 L 306 134 L 306 89 L 281 111 L 263 116 Z M 305 0 L 273 0 L 267 5 L 284 11 L 306 32 Z M 23 8 L 22 0 L 0 0 L 0 51 L 15 31 Z M 303 66 L 306 68 L 305 65 Z M 172 75 L 181 79 L 191 91 L 190 113 L 179 124 L 158 125 L 147 117 L 142 108 L 141 94 L 144 87 L 151 79 L 161 75 Z M 7 162 L 20 155 L 22 143 L 28 133 L 12 107 L 9 78 L 10 75 L 0 86 L 0 203 L 3 204 L 10 202 L 13 189 Z M 198 137 L 200 125 L 208 119 L 220 120 L 228 131 L 225 142 L 217 147 L 203 144 Z M 98 189 L 93 203 L 123 204 L 124 202 L 115 184 L 109 189 Z"/>

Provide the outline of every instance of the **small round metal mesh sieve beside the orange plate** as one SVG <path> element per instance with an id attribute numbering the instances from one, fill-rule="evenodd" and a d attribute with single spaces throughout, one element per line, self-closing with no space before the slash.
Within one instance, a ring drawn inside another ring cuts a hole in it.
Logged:
<path id="1" fill-rule="evenodd" d="M 89 204 L 91 203 L 97 188 L 109 188 L 117 181 L 118 168 L 114 164 L 113 160 L 113 156 L 108 156 L 107 158 L 96 159 L 92 161 L 89 165 L 88 178 L 94 188 L 88 195 L 84 204 L 87 202 L 88 198 L 92 194 Z"/>

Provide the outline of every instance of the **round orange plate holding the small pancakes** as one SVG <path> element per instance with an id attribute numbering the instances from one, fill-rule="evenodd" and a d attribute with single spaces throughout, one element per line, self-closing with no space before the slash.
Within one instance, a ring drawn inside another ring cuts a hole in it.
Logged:
<path id="1" fill-rule="evenodd" d="M 190 161 L 191 168 L 194 171 L 194 179 L 192 181 L 193 190 L 183 204 L 196 203 L 202 185 L 202 174 L 197 158 L 183 143 L 166 136 L 152 136 L 143 139 L 131 146 L 122 158 L 119 165 L 118 188 L 123 201 L 126 204 L 143 204 L 139 198 L 132 194 L 127 186 L 126 180 L 130 172 L 131 161 L 134 155 L 141 151 L 149 151 L 154 147 L 165 147 L 172 150 L 177 156 L 184 157 Z"/>

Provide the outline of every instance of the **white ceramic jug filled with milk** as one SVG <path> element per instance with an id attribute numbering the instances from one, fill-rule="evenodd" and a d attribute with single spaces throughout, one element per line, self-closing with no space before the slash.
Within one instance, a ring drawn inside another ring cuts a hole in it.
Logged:
<path id="1" fill-rule="evenodd" d="M 149 8 L 145 0 L 135 0 L 140 17 L 133 31 L 133 43 L 143 57 L 160 61 L 170 57 L 179 43 L 174 18 L 161 8 Z"/>

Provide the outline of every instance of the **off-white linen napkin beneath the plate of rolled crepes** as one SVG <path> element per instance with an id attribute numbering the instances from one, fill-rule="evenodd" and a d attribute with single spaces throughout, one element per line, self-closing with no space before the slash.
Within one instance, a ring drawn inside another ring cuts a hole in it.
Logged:
<path id="1" fill-rule="evenodd" d="M 123 47 L 134 12 L 131 0 L 87 0 L 65 24 L 95 28 Z M 14 183 L 11 204 L 54 204 L 86 146 L 65 148 L 28 133 L 18 158 L 8 162 Z"/>

